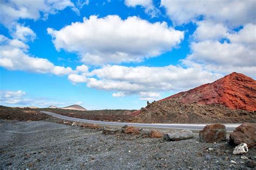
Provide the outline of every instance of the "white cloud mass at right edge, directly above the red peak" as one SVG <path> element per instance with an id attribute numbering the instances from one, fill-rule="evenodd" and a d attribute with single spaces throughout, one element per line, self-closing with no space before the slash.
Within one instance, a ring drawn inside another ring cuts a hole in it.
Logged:
<path id="1" fill-rule="evenodd" d="M 183 62 L 188 66 L 197 63 L 206 70 L 224 75 L 239 72 L 255 77 L 256 25 L 246 24 L 237 32 L 226 32 L 223 38 L 227 40 L 221 42 L 215 36 L 203 36 L 202 41 L 192 42 L 192 53 Z"/>

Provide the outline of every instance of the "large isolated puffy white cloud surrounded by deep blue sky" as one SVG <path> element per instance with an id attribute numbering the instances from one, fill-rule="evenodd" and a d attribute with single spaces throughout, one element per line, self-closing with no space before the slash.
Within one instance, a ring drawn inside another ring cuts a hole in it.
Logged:
<path id="1" fill-rule="evenodd" d="M 57 50 L 77 53 L 92 65 L 143 61 L 171 51 L 183 40 L 184 32 L 163 23 L 150 23 L 139 17 L 91 16 L 59 31 L 48 28 Z"/>

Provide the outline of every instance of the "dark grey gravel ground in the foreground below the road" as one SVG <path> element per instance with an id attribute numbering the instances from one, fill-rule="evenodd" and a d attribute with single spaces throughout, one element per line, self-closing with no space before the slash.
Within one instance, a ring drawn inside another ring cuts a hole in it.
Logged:
<path id="1" fill-rule="evenodd" d="M 48 121 L 0 119 L 0 169 L 12 168 L 242 168 L 255 166 L 256 150 L 241 159 L 226 141 L 207 144 L 195 138 L 164 141 L 82 129 Z M 209 150 L 208 148 L 213 148 Z M 231 160 L 236 163 L 231 163 Z"/>

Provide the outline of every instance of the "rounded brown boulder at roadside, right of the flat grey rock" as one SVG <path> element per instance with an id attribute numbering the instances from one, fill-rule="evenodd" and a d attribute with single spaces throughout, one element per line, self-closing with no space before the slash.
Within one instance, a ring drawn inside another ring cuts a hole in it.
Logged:
<path id="1" fill-rule="evenodd" d="M 201 141 L 207 143 L 219 142 L 226 140 L 226 126 L 223 124 L 206 125 L 203 130 L 199 131 Z"/>

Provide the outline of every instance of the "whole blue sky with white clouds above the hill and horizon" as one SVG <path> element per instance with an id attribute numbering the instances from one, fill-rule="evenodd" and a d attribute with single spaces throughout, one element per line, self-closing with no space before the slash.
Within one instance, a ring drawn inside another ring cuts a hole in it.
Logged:
<path id="1" fill-rule="evenodd" d="M 139 109 L 256 77 L 256 1 L 0 1 L 0 104 Z"/>

